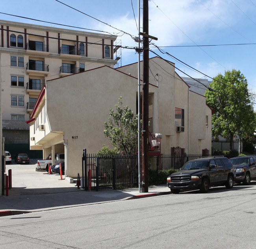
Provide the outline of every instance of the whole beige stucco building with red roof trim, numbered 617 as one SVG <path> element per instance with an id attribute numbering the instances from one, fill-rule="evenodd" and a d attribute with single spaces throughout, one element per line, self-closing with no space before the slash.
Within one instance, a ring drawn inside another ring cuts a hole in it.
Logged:
<path id="1" fill-rule="evenodd" d="M 211 110 L 205 97 L 189 91 L 174 64 L 150 59 L 149 118 L 152 134 L 160 133 L 161 153 L 180 147 L 190 154 L 211 149 Z M 161 81 L 156 81 L 156 75 Z M 137 112 L 137 63 L 113 69 L 102 66 L 48 80 L 31 113 L 30 148 L 49 153 L 65 151 L 65 175 L 82 170 L 82 152 L 97 153 L 105 138 L 104 122 L 120 96 Z M 56 94 L 58 93 L 58 94 Z M 141 95 L 141 93 L 140 93 Z"/>

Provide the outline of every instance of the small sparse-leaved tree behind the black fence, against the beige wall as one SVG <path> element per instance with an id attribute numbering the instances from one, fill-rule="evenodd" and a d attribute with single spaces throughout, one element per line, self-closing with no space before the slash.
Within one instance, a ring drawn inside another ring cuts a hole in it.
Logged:
<path id="1" fill-rule="evenodd" d="M 104 135 L 122 153 L 132 155 L 137 152 L 138 116 L 128 106 L 122 107 L 121 99 L 115 105 L 116 111 L 110 109 L 110 118 L 104 123 Z"/>

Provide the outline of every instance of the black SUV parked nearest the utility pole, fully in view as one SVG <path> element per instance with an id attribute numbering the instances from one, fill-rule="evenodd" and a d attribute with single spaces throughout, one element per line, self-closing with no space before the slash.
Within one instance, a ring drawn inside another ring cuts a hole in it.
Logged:
<path id="1" fill-rule="evenodd" d="M 173 194 L 180 190 L 200 189 L 209 191 L 210 186 L 233 188 L 234 167 L 226 157 L 202 157 L 186 162 L 180 171 L 167 177 L 167 186 Z"/>

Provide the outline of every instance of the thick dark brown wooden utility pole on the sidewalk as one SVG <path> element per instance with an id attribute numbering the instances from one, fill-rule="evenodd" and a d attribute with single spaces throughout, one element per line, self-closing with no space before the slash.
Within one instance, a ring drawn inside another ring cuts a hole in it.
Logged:
<path id="1" fill-rule="evenodd" d="M 143 0 L 143 89 L 142 89 L 142 187 L 143 193 L 148 192 L 148 0 Z"/>

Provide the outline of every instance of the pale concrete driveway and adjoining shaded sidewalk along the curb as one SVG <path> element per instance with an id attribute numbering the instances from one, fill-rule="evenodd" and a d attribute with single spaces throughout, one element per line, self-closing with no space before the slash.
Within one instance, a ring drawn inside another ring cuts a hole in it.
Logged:
<path id="1" fill-rule="evenodd" d="M 149 186 L 148 193 L 140 193 L 138 188 L 84 191 L 60 180 L 60 175 L 35 172 L 35 165 L 8 168 L 12 168 L 12 189 L 9 196 L 0 196 L 0 216 L 171 194 L 166 185 Z"/>

